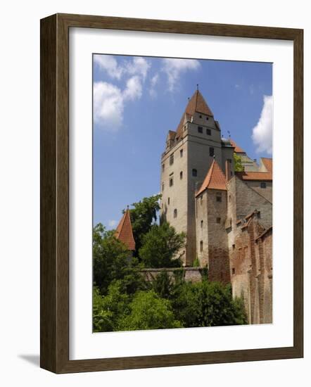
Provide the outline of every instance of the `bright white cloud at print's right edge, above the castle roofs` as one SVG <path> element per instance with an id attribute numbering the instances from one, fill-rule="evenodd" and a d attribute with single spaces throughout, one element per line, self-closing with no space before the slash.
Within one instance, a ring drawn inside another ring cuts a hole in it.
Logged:
<path id="1" fill-rule="evenodd" d="M 258 124 L 253 128 L 252 139 L 257 152 L 272 155 L 273 97 L 264 96 L 264 103 Z"/>

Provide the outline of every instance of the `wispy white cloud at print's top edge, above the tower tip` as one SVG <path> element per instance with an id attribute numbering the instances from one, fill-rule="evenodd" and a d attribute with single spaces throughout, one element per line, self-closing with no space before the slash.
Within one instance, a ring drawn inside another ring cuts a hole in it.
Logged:
<path id="1" fill-rule="evenodd" d="M 196 61 L 196 59 L 164 58 L 163 71 L 167 75 L 169 91 L 174 91 L 176 89 L 182 72 L 186 72 L 187 70 L 198 70 L 198 68 L 200 68 L 200 63 Z"/>

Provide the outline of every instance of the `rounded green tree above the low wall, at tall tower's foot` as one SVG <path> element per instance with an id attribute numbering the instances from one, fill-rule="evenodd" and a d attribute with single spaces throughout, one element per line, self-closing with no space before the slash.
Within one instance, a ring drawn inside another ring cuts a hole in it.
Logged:
<path id="1" fill-rule="evenodd" d="M 185 234 L 177 234 L 167 222 L 153 224 L 142 239 L 139 257 L 145 267 L 179 267 L 181 261 L 175 255 L 184 246 L 184 240 Z"/>

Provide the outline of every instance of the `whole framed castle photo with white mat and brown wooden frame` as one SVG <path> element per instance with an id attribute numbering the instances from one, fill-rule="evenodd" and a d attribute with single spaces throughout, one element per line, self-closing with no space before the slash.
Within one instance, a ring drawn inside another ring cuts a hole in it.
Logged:
<path id="1" fill-rule="evenodd" d="M 41 367 L 303 357 L 303 30 L 41 21 Z"/>

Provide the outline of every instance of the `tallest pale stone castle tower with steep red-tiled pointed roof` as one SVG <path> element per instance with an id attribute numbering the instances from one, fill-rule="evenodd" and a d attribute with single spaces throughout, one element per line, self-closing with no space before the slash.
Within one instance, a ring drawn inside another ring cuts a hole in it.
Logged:
<path id="1" fill-rule="evenodd" d="M 181 252 L 186 266 L 196 258 L 196 191 L 213 160 L 225 175 L 233 175 L 233 151 L 229 141 L 222 141 L 219 123 L 196 90 L 176 131 L 168 132 L 161 157 L 160 215 L 177 232 L 186 233 L 186 246 Z"/>

